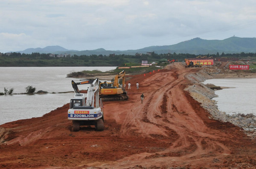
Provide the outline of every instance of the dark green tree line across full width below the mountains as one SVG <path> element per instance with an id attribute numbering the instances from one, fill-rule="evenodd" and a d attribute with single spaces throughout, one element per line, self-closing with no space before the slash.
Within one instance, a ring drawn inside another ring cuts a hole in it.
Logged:
<path id="1" fill-rule="evenodd" d="M 11 54 L 0 54 L 0 66 L 10 67 L 10 66 L 124 66 L 126 63 L 141 63 L 143 60 L 147 60 L 148 63 L 151 62 L 163 62 L 163 59 L 183 62 L 186 58 L 197 58 L 202 56 L 204 58 L 256 58 L 256 53 L 237 53 L 237 54 L 156 54 L 151 52 L 150 54 L 136 54 L 136 55 L 73 55 L 68 57 L 52 57 L 50 54 L 20 54 L 13 52 Z"/>

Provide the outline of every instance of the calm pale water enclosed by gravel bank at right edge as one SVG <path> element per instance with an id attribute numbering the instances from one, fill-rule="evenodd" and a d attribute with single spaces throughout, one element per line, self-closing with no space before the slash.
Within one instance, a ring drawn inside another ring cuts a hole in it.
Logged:
<path id="1" fill-rule="evenodd" d="M 211 83 L 216 86 L 230 87 L 216 90 L 218 109 L 228 114 L 253 113 L 256 115 L 256 79 L 209 79 L 204 84 Z"/>

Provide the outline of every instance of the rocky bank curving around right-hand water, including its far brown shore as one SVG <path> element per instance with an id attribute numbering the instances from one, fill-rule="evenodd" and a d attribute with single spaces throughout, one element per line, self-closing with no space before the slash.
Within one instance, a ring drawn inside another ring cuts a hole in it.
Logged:
<path id="1" fill-rule="evenodd" d="M 209 74 L 211 76 L 209 76 Z M 216 67 L 202 68 L 196 73 L 191 73 L 186 76 L 193 85 L 188 86 L 185 90 L 189 91 L 190 96 L 192 96 L 196 101 L 201 103 L 201 106 L 206 109 L 210 114 L 211 118 L 230 122 L 238 127 L 241 127 L 244 132 L 252 137 L 256 137 L 256 117 L 253 113 L 244 114 L 233 114 L 229 115 L 225 112 L 218 110 L 215 100 L 213 97 L 218 97 L 215 95 L 214 90 L 220 90 L 220 86 L 214 86 L 212 84 L 204 85 L 205 79 L 211 78 L 256 78 L 256 73 L 248 73 L 247 71 L 242 72 L 241 70 L 232 71 L 228 69 L 219 69 Z M 211 88 L 211 89 L 210 89 Z"/>

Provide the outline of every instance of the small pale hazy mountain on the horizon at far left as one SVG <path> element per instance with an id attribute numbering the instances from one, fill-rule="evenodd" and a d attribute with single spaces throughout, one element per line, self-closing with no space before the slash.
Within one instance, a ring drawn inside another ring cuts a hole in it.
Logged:
<path id="1" fill-rule="evenodd" d="M 24 51 L 17 51 L 20 52 L 21 54 L 32 54 L 32 53 L 41 53 L 41 54 L 49 54 L 49 53 L 53 53 L 55 54 L 56 52 L 66 52 L 66 51 L 73 51 L 75 52 L 75 50 L 68 50 L 65 48 L 62 48 L 61 46 L 47 46 L 45 48 L 28 48 Z"/>

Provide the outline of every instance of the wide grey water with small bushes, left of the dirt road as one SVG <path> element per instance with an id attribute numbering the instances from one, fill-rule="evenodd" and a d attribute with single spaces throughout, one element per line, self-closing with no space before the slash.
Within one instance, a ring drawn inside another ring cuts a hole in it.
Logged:
<path id="1" fill-rule="evenodd" d="M 75 93 L 71 85 L 74 78 L 66 78 L 68 73 L 82 70 L 104 72 L 113 69 L 116 67 L 0 67 L 0 92 L 4 93 L 4 88 L 14 88 L 13 93 L 26 93 L 27 86 L 35 87 L 36 91 L 49 92 L 0 96 L 0 124 L 41 117 L 69 103 Z M 59 93 L 69 91 L 70 93 Z"/>

